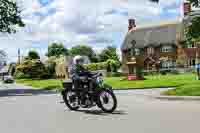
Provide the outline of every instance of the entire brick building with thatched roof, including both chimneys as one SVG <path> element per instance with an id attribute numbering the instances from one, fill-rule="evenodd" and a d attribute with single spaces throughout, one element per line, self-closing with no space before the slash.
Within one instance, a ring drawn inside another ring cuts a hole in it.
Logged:
<path id="1" fill-rule="evenodd" d="M 189 13 L 198 14 L 191 12 L 189 3 L 184 3 L 181 20 L 136 27 L 135 20 L 129 19 L 128 32 L 121 46 L 122 72 L 135 74 L 138 67 L 145 71 L 191 68 L 200 63 L 199 43 L 184 43 L 184 26 L 191 19 Z"/>

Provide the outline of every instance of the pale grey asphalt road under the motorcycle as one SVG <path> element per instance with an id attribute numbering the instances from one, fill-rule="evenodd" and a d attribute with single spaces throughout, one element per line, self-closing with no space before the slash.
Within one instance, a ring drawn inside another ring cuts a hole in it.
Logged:
<path id="1" fill-rule="evenodd" d="M 117 93 L 113 114 L 69 111 L 59 94 L 0 85 L 1 133 L 192 133 L 199 132 L 200 102 L 166 101 Z"/>

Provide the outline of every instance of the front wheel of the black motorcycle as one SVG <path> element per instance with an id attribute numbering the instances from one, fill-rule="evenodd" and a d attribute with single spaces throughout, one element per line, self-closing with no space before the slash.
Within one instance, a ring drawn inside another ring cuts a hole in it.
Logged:
<path id="1" fill-rule="evenodd" d="M 117 98 L 112 91 L 103 90 L 98 97 L 99 107 L 106 113 L 112 113 L 117 108 Z"/>

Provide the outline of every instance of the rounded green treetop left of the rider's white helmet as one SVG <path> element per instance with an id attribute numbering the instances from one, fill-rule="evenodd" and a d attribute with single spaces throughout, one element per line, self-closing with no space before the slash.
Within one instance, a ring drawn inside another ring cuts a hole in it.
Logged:
<path id="1" fill-rule="evenodd" d="M 46 56 L 60 57 L 61 55 L 69 55 L 68 49 L 65 48 L 62 43 L 52 43 L 48 46 L 48 52 Z"/>

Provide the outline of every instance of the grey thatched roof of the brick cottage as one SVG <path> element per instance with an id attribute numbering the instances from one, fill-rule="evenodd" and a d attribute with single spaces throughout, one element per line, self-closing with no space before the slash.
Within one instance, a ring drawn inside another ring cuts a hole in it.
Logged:
<path id="1" fill-rule="evenodd" d="M 133 40 L 135 40 L 135 46 L 138 48 L 143 48 L 150 44 L 176 44 L 178 37 L 180 40 L 183 39 L 183 25 L 180 22 L 138 27 L 127 33 L 121 49 L 130 48 Z"/>

